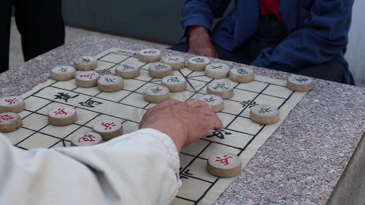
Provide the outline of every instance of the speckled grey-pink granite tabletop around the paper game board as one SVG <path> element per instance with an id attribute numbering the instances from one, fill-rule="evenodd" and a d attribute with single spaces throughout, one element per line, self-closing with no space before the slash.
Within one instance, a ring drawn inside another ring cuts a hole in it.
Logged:
<path id="1" fill-rule="evenodd" d="M 97 36 L 79 38 L 0 74 L 0 96 L 21 95 L 47 81 L 54 66 L 72 64 L 75 57 L 97 55 L 110 47 L 140 51 L 150 46 Z M 264 68 L 256 68 L 255 73 L 289 77 Z M 364 133 L 365 88 L 315 79 L 313 89 L 216 204 L 325 204 Z"/>

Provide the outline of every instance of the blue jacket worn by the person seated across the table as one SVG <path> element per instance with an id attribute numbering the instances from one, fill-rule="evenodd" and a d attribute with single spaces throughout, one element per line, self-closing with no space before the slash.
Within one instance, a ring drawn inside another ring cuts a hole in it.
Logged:
<path id="1" fill-rule="evenodd" d="M 187 0 L 181 12 L 181 25 L 202 25 L 211 31 L 213 42 L 233 51 L 257 31 L 258 0 L 236 0 L 235 6 L 214 29 L 214 18 L 221 18 L 231 0 Z M 275 48 L 263 49 L 254 66 L 293 72 L 336 58 L 344 68 L 342 83 L 355 85 L 344 59 L 354 0 L 280 0 L 279 14 L 288 37 Z"/>

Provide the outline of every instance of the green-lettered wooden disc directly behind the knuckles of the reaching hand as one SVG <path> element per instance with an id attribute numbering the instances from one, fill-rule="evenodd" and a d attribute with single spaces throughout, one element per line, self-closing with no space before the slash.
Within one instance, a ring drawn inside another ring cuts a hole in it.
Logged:
<path id="1" fill-rule="evenodd" d="M 147 102 L 160 102 L 170 97 L 170 91 L 164 85 L 152 85 L 144 89 L 143 98 Z"/>

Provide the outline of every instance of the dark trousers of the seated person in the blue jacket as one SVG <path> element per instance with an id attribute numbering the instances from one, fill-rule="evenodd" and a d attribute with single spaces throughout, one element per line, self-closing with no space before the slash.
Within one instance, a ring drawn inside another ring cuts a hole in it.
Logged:
<path id="1" fill-rule="evenodd" d="M 219 59 L 249 65 L 261 53 L 262 49 L 277 46 L 286 36 L 288 33 L 281 23 L 269 16 L 261 16 L 260 27 L 255 35 L 234 51 L 227 51 L 214 42 L 213 45 Z M 169 49 L 187 52 L 189 44 L 188 42 L 180 42 Z M 323 64 L 305 66 L 293 73 L 341 83 L 344 67 L 339 61 L 332 59 Z"/>

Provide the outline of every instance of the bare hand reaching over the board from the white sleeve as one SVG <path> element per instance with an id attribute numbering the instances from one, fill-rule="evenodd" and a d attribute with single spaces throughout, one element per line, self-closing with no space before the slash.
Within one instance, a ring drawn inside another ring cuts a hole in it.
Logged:
<path id="1" fill-rule="evenodd" d="M 222 127 L 210 105 L 197 99 L 164 100 L 148 109 L 140 121 L 140 128 L 154 128 L 170 136 L 178 152 L 203 137 L 210 128 Z"/>

